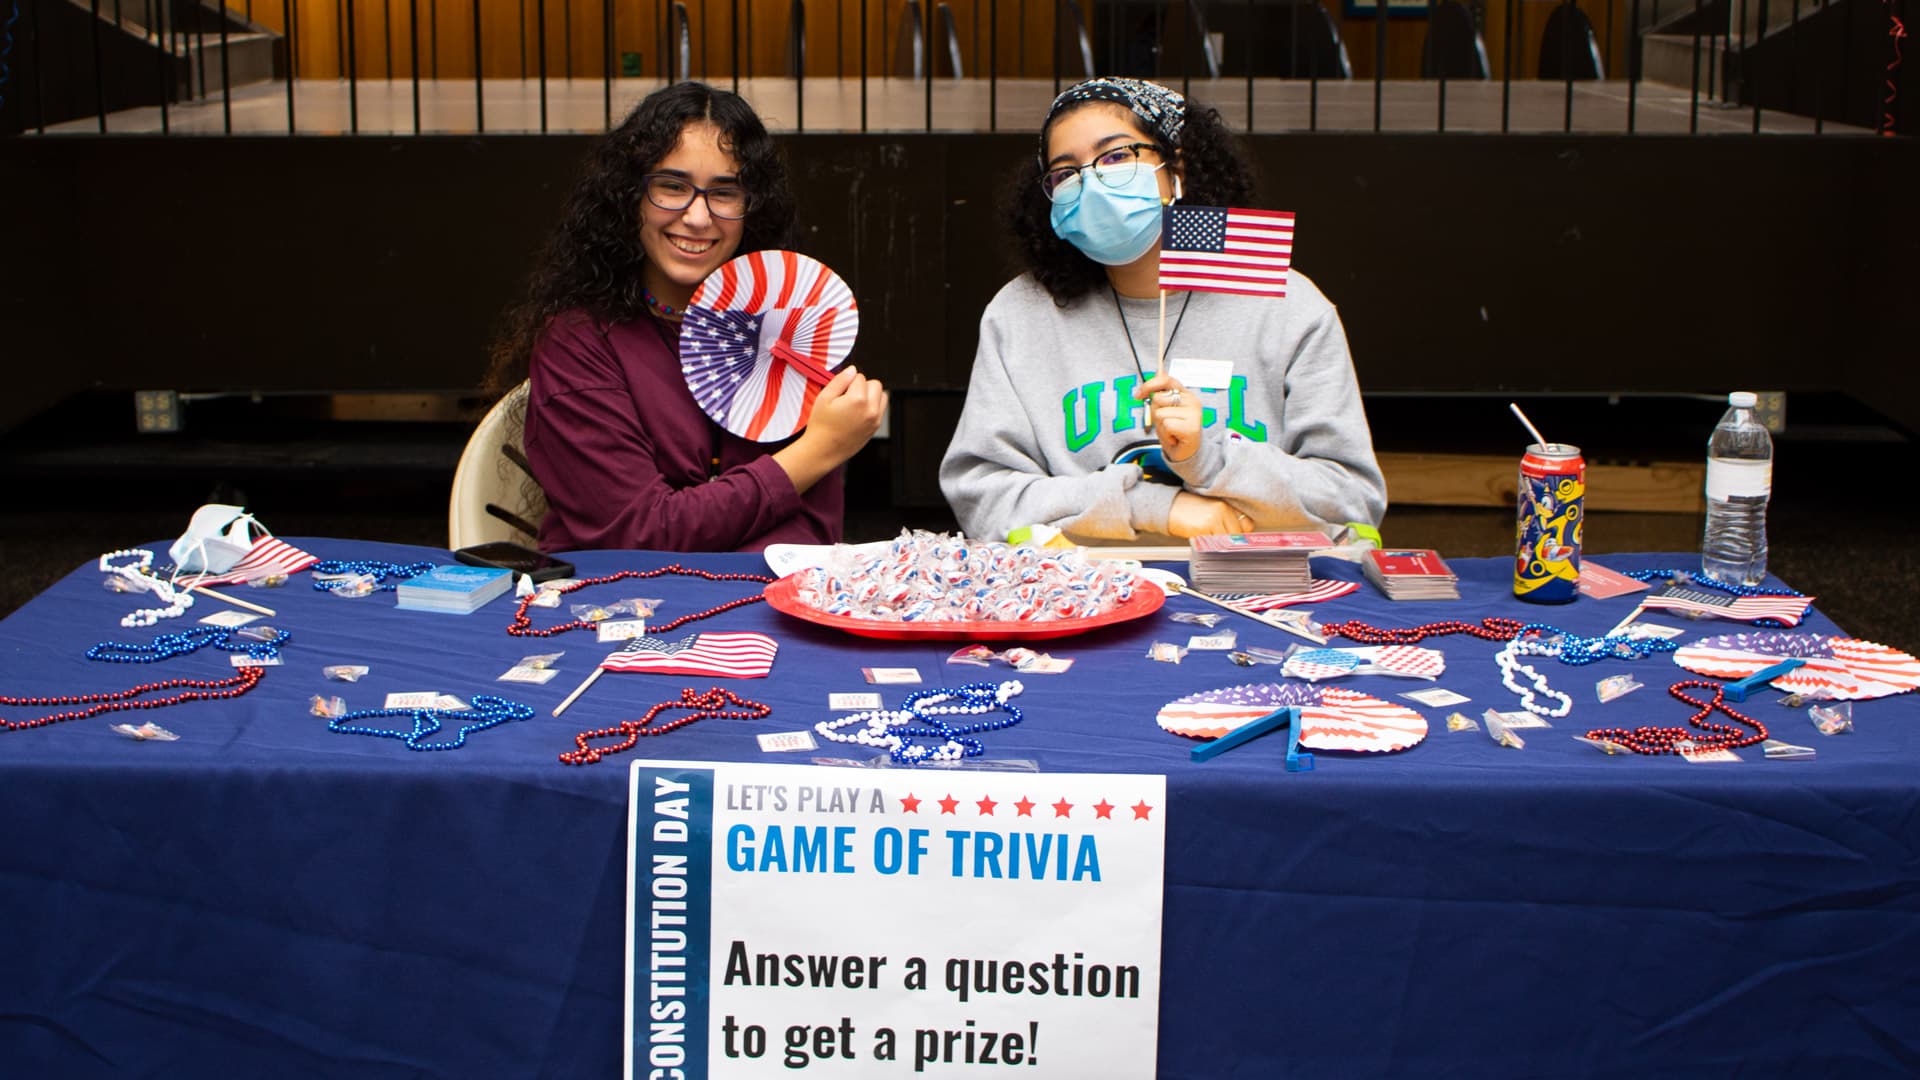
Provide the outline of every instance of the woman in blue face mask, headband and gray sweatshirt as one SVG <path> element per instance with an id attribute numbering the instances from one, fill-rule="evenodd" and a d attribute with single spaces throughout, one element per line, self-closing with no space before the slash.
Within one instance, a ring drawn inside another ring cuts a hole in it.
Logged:
<path id="1" fill-rule="evenodd" d="M 1156 361 L 1160 211 L 1177 200 L 1254 206 L 1217 111 L 1139 79 L 1089 79 L 1054 100 L 1012 196 L 1027 273 L 981 317 L 941 463 L 970 536 L 1043 523 L 1152 544 L 1379 525 L 1386 484 L 1346 332 L 1298 269 L 1284 298 L 1167 294 L 1165 356 L 1231 363 L 1223 386 L 1187 386 Z M 1142 442 L 1165 469 L 1131 463 Z"/>

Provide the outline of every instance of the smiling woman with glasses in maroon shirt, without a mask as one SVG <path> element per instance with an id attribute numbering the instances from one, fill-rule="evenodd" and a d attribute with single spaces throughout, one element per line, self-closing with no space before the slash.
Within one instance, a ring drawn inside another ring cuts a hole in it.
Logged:
<path id="1" fill-rule="evenodd" d="M 793 194 L 739 96 L 678 83 L 595 148 L 493 346 L 488 384 L 530 379 L 526 459 L 547 496 L 540 546 L 756 552 L 837 542 L 839 467 L 887 409 L 852 365 L 783 446 L 701 411 L 680 373 L 680 317 L 733 256 L 780 248 Z"/>

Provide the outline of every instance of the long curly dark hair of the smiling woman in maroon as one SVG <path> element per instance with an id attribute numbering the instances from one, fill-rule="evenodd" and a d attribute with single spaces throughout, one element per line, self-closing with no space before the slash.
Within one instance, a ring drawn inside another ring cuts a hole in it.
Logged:
<path id="1" fill-rule="evenodd" d="M 645 311 L 639 265 L 641 177 L 674 152 L 689 123 L 720 129 L 720 148 L 739 161 L 739 184 L 751 209 L 739 250 L 783 248 L 793 233 L 793 188 L 787 163 L 755 115 L 753 106 L 705 83 L 674 83 L 647 94 L 588 156 L 586 171 L 566 198 L 566 213 L 547 236 L 540 261 L 490 350 L 486 390 L 499 396 L 526 379 L 534 342 L 547 321 L 582 307 L 601 321 L 636 319 Z"/>

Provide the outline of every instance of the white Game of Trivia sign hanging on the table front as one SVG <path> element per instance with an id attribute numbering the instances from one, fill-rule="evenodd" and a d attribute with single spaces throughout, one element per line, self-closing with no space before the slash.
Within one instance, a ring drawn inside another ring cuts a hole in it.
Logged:
<path id="1" fill-rule="evenodd" d="M 636 761 L 626 1076 L 1152 1076 L 1165 776 Z"/>

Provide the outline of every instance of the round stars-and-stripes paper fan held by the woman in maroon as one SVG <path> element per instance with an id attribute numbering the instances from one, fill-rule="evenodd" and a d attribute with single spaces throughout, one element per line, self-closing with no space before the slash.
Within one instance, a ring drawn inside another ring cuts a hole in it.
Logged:
<path id="1" fill-rule="evenodd" d="M 680 371 L 714 423 L 778 442 L 806 427 L 858 331 L 852 290 L 820 259 L 753 252 L 693 290 L 680 325 Z"/>

